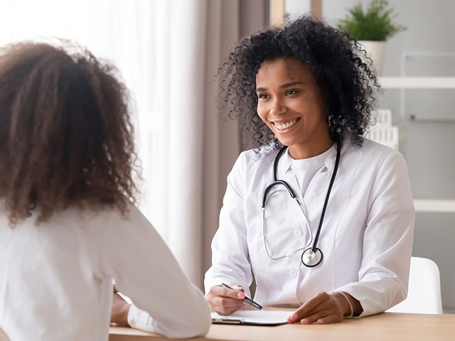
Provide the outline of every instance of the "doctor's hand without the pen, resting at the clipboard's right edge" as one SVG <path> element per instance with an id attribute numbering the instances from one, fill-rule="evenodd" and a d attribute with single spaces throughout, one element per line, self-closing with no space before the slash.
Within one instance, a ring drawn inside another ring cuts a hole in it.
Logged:
<path id="1" fill-rule="evenodd" d="M 360 302 L 348 293 L 345 294 L 353 306 L 353 315 L 360 315 L 363 311 Z M 336 323 L 341 322 L 345 316 L 350 316 L 350 313 L 349 303 L 343 294 L 336 291 L 333 293 L 322 292 L 301 305 L 294 314 L 289 316 L 287 323 L 301 323 L 302 325 Z"/>

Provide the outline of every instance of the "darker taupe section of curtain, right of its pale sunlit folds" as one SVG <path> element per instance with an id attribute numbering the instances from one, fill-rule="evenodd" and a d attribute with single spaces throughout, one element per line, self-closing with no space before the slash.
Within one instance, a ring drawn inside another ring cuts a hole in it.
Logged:
<path id="1" fill-rule="evenodd" d="M 217 72 L 229 48 L 242 36 L 258 31 L 269 22 L 268 0 L 209 1 L 207 63 L 205 77 L 205 144 L 203 163 L 203 272 L 211 265 L 210 242 L 218 229 L 218 215 L 226 189 L 226 177 L 242 147 L 237 121 L 220 124 L 214 99 Z M 202 286 L 200 277 L 200 285 Z M 196 282 L 198 283 L 198 282 Z"/>

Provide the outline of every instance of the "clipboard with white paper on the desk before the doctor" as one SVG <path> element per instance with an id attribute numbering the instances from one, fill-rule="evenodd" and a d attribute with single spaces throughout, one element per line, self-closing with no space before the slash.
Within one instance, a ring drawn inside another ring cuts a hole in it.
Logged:
<path id="1" fill-rule="evenodd" d="M 226 325 L 285 325 L 290 311 L 237 310 L 232 315 L 211 313 L 212 323 Z"/>

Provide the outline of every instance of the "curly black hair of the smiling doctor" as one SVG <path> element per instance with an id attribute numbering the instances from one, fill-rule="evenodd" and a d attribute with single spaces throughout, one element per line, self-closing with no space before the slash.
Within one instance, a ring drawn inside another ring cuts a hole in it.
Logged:
<path id="1" fill-rule="evenodd" d="M 339 143 L 348 133 L 361 146 L 380 90 L 372 60 L 347 33 L 310 16 L 287 21 L 242 38 L 218 69 L 217 106 L 223 119 L 239 118 L 245 144 L 273 144 L 277 139 L 257 115 L 256 75 L 264 60 L 295 58 L 313 73 L 328 107 L 331 139 Z"/>

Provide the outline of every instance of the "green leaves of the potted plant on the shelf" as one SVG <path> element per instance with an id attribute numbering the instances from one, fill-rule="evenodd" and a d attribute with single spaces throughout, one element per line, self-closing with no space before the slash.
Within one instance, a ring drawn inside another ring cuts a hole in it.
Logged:
<path id="1" fill-rule="evenodd" d="M 406 27 L 393 23 L 394 9 L 387 9 L 387 0 L 372 0 L 366 11 L 359 3 L 348 9 L 346 18 L 341 19 L 338 28 L 357 40 L 387 40 L 405 31 Z"/>

